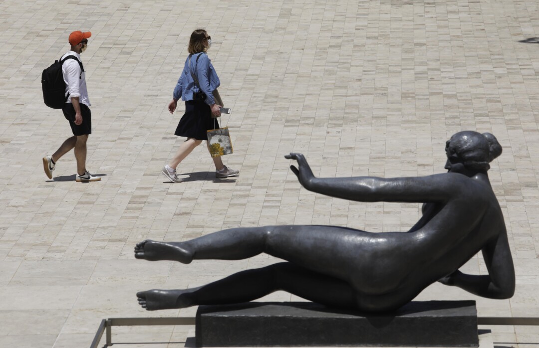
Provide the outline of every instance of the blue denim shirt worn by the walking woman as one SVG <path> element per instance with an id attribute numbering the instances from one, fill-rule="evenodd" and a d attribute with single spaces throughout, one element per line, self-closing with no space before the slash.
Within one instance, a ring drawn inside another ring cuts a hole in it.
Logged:
<path id="1" fill-rule="evenodd" d="M 200 58 L 198 58 L 197 61 L 198 55 L 200 55 Z M 172 97 L 176 100 L 182 98 L 183 101 L 189 101 L 193 100 L 193 92 L 202 91 L 206 94 L 206 100 L 204 102 L 208 105 L 212 105 L 215 103 L 212 92 L 219 87 L 221 81 L 219 81 L 217 73 L 211 64 L 208 55 L 201 52 L 192 55 L 190 54 L 189 56 L 191 57 L 190 64 L 188 64 L 188 57 L 185 59 L 182 75 L 179 76 L 178 83 L 176 84 L 176 88 L 174 88 L 174 94 L 172 94 Z M 191 67 L 189 67 L 189 65 Z M 200 89 L 195 86 L 195 80 L 191 76 L 190 68 L 196 72 Z"/>

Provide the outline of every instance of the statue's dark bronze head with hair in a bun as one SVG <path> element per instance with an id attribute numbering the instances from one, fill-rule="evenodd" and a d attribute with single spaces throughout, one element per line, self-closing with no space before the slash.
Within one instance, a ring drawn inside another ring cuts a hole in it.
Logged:
<path id="1" fill-rule="evenodd" d="M 468 170 L 487 171 L 490 169 L 489 163 L 501 155 L 502 147 L 490 133 L 466 130 L 454 134 L 446 142 L 445 153 L 447 170 L 464 166 Z"/>

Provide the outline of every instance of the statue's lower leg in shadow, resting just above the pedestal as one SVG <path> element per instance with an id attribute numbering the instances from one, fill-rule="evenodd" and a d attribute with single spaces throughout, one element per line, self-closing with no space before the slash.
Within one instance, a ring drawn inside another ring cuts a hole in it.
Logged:
<path id="1" fill-rule="evenodd" d="M 245 270 L 193 289 L 141 291 L 137 297 L 143 308 L 158 310 L 248 302 L 276 290 L 333 307 L 356 308 L 357 305 L 355 292 L 347 282 L 289 262 Z"/>

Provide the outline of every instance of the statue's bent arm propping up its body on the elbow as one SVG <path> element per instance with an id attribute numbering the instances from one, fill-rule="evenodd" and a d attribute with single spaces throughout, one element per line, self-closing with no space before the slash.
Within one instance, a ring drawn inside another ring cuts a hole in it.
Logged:
<path id="1" fill-rule="evenodd" d="M 482 249 L 488 275 L 471 275 L 457 270 L 441 283 L 456 286 L 474 295 L 488 298 L 510 298 L 515 293 L 515 269 L 504 231 Z"/>

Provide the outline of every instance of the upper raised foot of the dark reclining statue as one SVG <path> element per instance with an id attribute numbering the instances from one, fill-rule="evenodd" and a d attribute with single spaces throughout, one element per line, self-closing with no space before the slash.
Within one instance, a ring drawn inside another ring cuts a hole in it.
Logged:
<path id="1" fill-rule="evenodd" d="M 135 257 L 148 261 L 179 261 L 190 263 L 193 256 L 190 252 L 180 247 L 181 243 L 156 242 L 154 240 L 144 240 L 135 246 Z"/>

